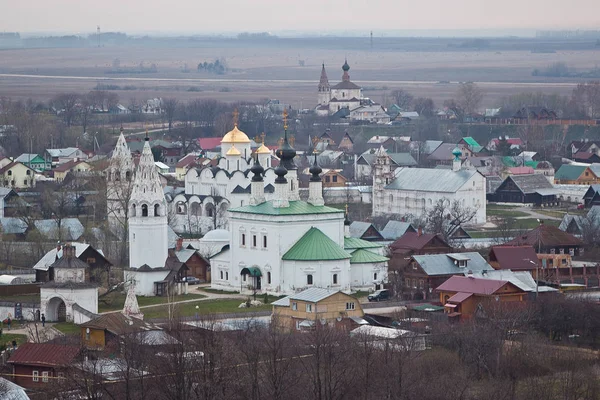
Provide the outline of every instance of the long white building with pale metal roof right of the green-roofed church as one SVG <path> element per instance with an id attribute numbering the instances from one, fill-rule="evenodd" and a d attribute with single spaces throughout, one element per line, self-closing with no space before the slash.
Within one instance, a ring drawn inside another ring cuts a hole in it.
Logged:
<path id="1" fill-rule="evenodd" d="M 476 210 L 470 224 L 486 222 L 485 176 L 474 169 L 461 168 L 460 150 L 453 152 L 452 169 L 398 168 L 385 149 L 377 153 L 373 176 L 373 215 L 400 214 L 423 217 L 439 200 L 448 205 L 458 201 Z"/>

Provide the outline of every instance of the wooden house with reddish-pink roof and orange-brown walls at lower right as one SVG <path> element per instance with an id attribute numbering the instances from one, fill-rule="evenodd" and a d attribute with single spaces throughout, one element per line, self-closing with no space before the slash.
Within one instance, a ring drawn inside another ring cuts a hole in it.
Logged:
<path id="1" fill-rule="evenodd" d="M 498 304 L 522 302 L 527 293 L 514 284 L 473 276 L 452 276 L 436 288 L 440 303 L 450 318 L 464 321 L 477 314 L 482 316 Z"/>

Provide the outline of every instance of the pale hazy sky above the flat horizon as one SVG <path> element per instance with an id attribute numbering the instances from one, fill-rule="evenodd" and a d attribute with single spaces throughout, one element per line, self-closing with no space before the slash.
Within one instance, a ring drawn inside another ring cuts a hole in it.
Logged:
<path id="1" fill-rule="evenodd" d="M 0 0 L 0 31 L 600 29 L 599 0 Z"/>

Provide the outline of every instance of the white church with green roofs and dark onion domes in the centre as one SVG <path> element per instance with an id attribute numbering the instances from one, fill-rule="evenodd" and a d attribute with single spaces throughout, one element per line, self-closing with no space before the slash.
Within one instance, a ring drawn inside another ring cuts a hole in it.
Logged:
<path id="1" fill-rule="evenodd" d="M 229 209 L 230 245 L 211 258 L 211 287 L 271 294 L 379 287 L 387 279 L 387 258 L 368 250 L 372 243 L 346 237 L 344 213 L 324 205 L 316 158 L 305 202 L 289 182 L 295 174 L 288 176 L 286 166 L 293 165 L 296 152 L 287 133 L 277 155 L 273 200 L 265 199 L 265 171 L 256 163 L 249 204 Z"/>

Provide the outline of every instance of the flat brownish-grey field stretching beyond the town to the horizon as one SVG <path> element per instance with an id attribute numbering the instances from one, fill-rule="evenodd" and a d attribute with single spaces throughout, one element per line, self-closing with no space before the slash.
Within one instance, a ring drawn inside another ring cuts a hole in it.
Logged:
<path id="1" fill-rule="evenodd" d="M 312 44 L 311 44 L 312 43 Z M 0 51 L 0 74 L 46 75 L 61 78 L 0 76 L 0 96 L 47 100 L 65 91 L 85 92 L 98 82 L 135 86 L 117 91 L 122 102 L 131 98 L 216 98 L 223 101 L 258 100 L 269 97 L 294 107 L 312 107 L 320 66 L 325 62 L 330 83 L 341 79 L 341 64 L 348 58 L 352 80 L 364 87 L 366 96 L 382 101 L 394 88 L 406 88 L 417 96 L 432 97 L 438 104 L 454 95 L 458 81 L 476 81 L 485 91 L 483 106 L 521 91 L 568 94 L 577 80 L 548 79 L 536 82 L 534 68 L 567 61 L 578 69 L 593 68 L 600 50 L 561 50 L 531 53 L 530 50 L 440 51 L 385 49 L 356 50 L 345 42 L 319 47 L 311 42 L 297 47 L 106 47 L 81 49 L 21 49 Z M 342 46 L 343 45 L 343 46 Z M 311 47 L 313 46 L 313 47 Z M 345 47 L 344 47 L 345 46 Z M 414 46 L 413 46 L 414 47 Z M 122 66 L 157 64 L 158 73 L 119 76 L 107 74 L 113 60 Z M 223 76 L 197 73 L 198 62 L 224 58 L 232 70 Z M 300 66 L 300 61 L 304 66 Z M 182 72 L 184 66 L 191 72 Z M 78 78 L 78 79 L 75 79 Z M 161 80 L 169 79 L 169 80 Z M 452 83 L 440 84 L 438 81 Z M 190 91 L 191 90 L 191 91 Z"/>

